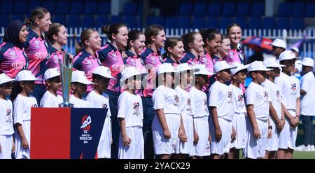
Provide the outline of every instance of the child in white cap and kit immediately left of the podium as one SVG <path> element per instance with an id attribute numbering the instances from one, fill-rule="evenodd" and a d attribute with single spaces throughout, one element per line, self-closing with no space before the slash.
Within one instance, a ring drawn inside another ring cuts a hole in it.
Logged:
<path id="1" fill-rule="evenodd" d="M 18 96 L 13 102 L 13 118 L 15 125 L 15 158 L 28 158 L 31 145 L 31 108 L 38 107 L 36 98 L 30 95 L 35 88 L 35 81 L 41 81 L 41 78 L 35 78 L 29 70 L 20 71 L 15 77 L 18 79 Z"/>

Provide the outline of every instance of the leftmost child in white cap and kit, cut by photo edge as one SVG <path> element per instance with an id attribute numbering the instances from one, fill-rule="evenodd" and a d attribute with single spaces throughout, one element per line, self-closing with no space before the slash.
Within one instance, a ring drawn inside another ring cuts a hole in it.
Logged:
<path id="1" fill-rule="evenodd" d="M 12 102 L 7 98 L 13 81 L 16 79 L 0 74 L 0 159 L 11 159 L 11 153 L 15 152 Z"/>

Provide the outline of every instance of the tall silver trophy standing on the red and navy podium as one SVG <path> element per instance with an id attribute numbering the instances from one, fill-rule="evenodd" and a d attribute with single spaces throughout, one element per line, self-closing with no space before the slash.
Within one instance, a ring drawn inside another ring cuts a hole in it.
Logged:
<path id="1" fill-rule="evenodd" d="M 69 55 L 66 53 L 62 53 L 62 60 L 59 60 L 59 70 L 62 82 L 62 99 L 64 100 L 64 102 L 59 104 L 59 107 L 73 107 L 73 104 L 69 103 L 72 64 Z"/>

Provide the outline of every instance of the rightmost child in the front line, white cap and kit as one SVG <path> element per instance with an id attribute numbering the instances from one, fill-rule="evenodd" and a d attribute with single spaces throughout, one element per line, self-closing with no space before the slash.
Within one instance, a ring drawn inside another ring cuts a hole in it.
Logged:
<path id="1" fill-rule="evenodd" d="M 276 158 L 292 158 L 297 137 L 297 125 L 300 120 L 300 81 L 291 75 L 294 70 L 295 59 L 297 57 L 291 50 L 286 50 L 280 54 L 280 64 L 285 65 L 279 77 L 274 79 L 274 83 L 282 90 L 281 104 L 283 104 L 286 122 L 279 135 L 279 150 Z"/>

